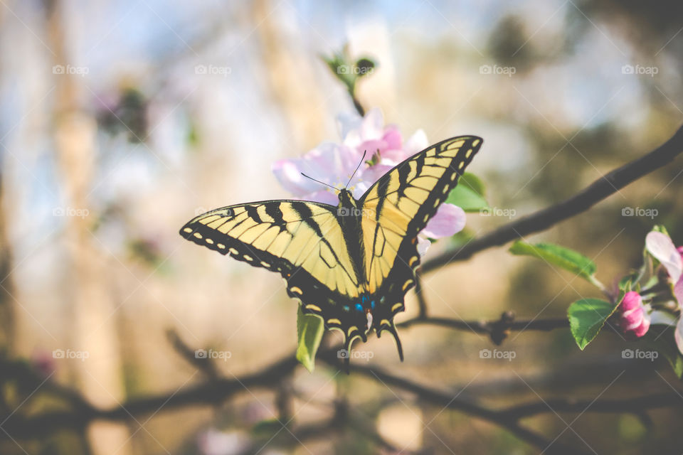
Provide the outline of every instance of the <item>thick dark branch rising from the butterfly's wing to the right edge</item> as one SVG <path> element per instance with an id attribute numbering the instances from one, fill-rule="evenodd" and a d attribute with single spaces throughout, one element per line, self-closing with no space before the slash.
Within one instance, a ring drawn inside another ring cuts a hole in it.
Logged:
<path id="1" fill-rule="evenodd" d="M 682 151 L 683 127 L 679 128 L 671 139 L 657 147 L 657 149 L 605 174 L 605 176 L 599 178 L 575 196 L 531 213 L 531 215 L 526 215 L 524 218 L 512 223 L 507 223 L 488 234 L 482 235 L 482 237 L 472 240 L 457 250 L 457 252 L 452 250 L 443 252 L 425 261 L 422 271 L 430 272 L 445 264 L 468 259 L 475 255 L 475 253 L 487 248 L 505 245 L 507 242 L 517 240 L 519 237 L 546 230 L 556 223 L 560 223 L 588 210 L 600 202 L 600 200 L 611 196 L 632 181 L 665 166 L 673 161 Z"/>

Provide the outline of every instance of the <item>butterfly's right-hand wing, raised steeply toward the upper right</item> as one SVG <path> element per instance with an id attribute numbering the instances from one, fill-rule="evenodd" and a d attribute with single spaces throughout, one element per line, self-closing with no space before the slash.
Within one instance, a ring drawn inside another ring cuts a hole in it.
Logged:
<path id="1" fill-rule="evenodd" d="M 403 311 L 403 296 L 415 286 L 420 264 L 417 235 L 481 145 L 476 136 L 434 144 L 388 171 L 359 200 L 366 279 L 371 294 L 381 297 L 374 310 L 378 336 L 389 330 L 396 337 L 393 316 Z"/>

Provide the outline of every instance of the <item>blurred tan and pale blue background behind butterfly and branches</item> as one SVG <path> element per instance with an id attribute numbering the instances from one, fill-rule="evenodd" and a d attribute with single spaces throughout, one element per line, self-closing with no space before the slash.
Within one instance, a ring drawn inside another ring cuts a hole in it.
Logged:
<path id="1" fill-rule="evenodd" d="M 206 380 L 174 349 L 169 330 L 191 349 L 229 351 L 216 362 L 224 378 L 295 349 L 297 307 L 280 277 L 177 232 L 211 208 L 290 196 L 270 164 L 339 141 L 337 116 L 354 112 L 321 58 L 344 45 L 376 61 L 356 95 L 404 137 L 423 129 L 430 142 L 485 139 L 470 170 L 506 215 L 468 214 L 467 232 L 429 255 L 573 195 L 661 144 L 683 120 L 677 1 L 0 3 L 4 416 L 68 409 L 49 391 L 59 387 L 110 408 Z M 683 243 L 682 164 L 528 240 L 583 252 L 611 285 L 637 267 L 652 225 Z M 625 208 L 657 215 L 623 216 Z M 599 296 L 504 248 L 424 282 L 430 314 L 462 319 L 507 310 L 562 317 L 572 301 Z M 412 292 L 407 306 L 398 321 L 415 315 Z M 387 338 L 354 348 L 373 353 L 372 365 L 439 390 L 467 386 L 461 397 L 491 407 L 682 390 L 665 360 L 625 360 L 621 350 L 633 345 L 608 333 L 583 352 L 566 329 L 513 333 L 500 348 L 516 353 L 512 361 L 480 358 L 493 346 L 475 333 L 414 326 L 401 338 L 404 363 Z M 12 368 L 44 380 L 21 383 Z M 287 415 L 294 427 L 320 422 L 339 397 L 356 422 L 376 426 L 403 453 L 538 452 L 480 419 L 338 373 L 324 363 L 312 374 L 297 368 L 280 391 L 161 406 L 85 432 L 4 431 L 0 452 L 393 453 L 353 428 L 295 441 L 277 424 Z M 677 406 L 647 417 L 548 412 L 524 424 L 596 454 L 679 453 L 682 417 Z"/>

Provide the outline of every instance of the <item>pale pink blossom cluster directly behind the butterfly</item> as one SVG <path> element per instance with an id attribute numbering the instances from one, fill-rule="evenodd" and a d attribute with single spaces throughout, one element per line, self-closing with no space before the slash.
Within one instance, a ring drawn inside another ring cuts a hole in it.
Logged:
<path id="1" fill-rule="evenodd" d="M 396 125 L 384 125 L 381 110 L 377 108 L 371 109 L 365 117 L 340 116 L 339 131 L 341 144 L 323 142 L 301 158 L 275 161 L 272 164 L 275 178 L 297 198 L 337 205 L 339 199 L 336 191 L 305 178 L 301 173 L 334 188 L 344 188 L 366 153 L 364 162 L 348 188 L 358 199 L 393 166 L 429 145 L 422 130 L 403 141 Z M 465 221 L 465 210 L 462 208 L 448 203 L 440 205 L 436 215 L 420 232 L 420 255 L 424 255 L 430 245 L 428 238 L 450 237 L 465 228 Z"/>

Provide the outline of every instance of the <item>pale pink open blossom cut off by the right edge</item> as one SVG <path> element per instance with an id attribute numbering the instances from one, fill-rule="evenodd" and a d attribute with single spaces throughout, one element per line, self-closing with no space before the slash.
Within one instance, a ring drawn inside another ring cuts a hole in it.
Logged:
<path id="1" fill-rule="evenodd" d="M 667 269 L 674 285 L 674 296 L 683 312 L 683 247 L 676 248 L 668 235 L 652 231 L 645 237 L 645 247 Z M 674 332 L 678 350 L 683 354 L 683 317 L 679 316 Z"/>

